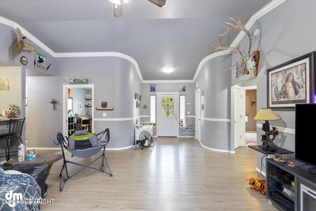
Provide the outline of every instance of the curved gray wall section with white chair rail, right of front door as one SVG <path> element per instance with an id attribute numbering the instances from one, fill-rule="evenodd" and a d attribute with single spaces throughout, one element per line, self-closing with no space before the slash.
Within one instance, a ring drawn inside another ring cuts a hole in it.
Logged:
<path id="1" fill-rule="evenodd" d="M 217 150 L 231 150 L 230 134 L 230 74 L 224 67 L 230 66 L 229 55 L 208 60 L 200 70 L 196 82 L 204 90 L 201 104 L 200 141 L 205 147 Z M 225 121 L 227 120 L 227 121 Z"/>

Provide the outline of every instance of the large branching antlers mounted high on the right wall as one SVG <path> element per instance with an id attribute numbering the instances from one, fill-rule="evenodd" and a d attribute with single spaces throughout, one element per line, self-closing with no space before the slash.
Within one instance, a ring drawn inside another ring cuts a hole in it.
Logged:
<path id="1" fill-rule="evenodd" d="M 224 26 L 224 28 L 227 29 L 227 31 L 224 33 L 223 30 L 222 30 L 222 34 L 219 35 L 218 37 L 218 44 L 217 45 L 213 45 L 212 43 L 209 42 L 210 45 L 212 45 L 214 48 L 211 50 L 211 53 L 214 53 L 215 51 L 217 50 L 222 50 L 222 49 L 232 49 L 232 50 L 237 50 L 237 52 L 239 53 L 239 55 L 241 56 L 241 58 L 230 68 L 225 68 L 224 70 L 226 72 L 229 72 L 230 70 L 232 70 L 236 65 L 237 65 L 237 68 L 240 68 L 240 71 L 238 71 L 240 74 L 249 74 L 249 70 L 247 69 L 247 65 L 246 65 L 246 62 L 247 60 L 250 58 L 250 49 L 251 49 L 251 44 L 252 44 L 252 33 L 250 33 L 241 23 L 240 21 L 240 18 L 239 17 L 236 17 L 236 18 L 231 18 L 229 17 L 230 19 L 232 19 L 235 23 L 237 23 L 236 25 L 232 24 L 232 23 L 228 23 L 228 22 L 224 22 L 226 24 L 229 24 L 231 25 L 230 28 Z M 233 30 L 236 30 L 236 29 L 240 29 L 241 31 L 243 31 L 244 33 L 246 33 L 246 35 L 249 37 L 249 49 L 248 49 L 248 52 L 247 52 L 247 55 L 244 56 L 242 55 L 240 49 L 239 49 L 239 46 L 238 47 L 225 47 L 225 46 L 222 46 L 221 44 L 221 39 L 222 39 L 222 36 L 223 35 L 227 35 L 229 32 L 233 31 Z"/>

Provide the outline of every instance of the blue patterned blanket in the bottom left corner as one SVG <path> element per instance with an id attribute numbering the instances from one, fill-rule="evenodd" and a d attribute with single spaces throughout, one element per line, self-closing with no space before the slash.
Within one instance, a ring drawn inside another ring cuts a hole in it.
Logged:
<path id="1" fill-rule="evenodd" d="M 0 211 L 41 211 L 40 194 L 31 175 L 0 168 Z"/>

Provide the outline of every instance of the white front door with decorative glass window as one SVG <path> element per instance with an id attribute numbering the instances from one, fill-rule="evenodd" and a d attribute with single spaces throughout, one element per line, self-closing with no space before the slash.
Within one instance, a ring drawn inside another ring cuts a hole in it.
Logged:
<path id="1" fill-rule="evenodd" d="M 178 136 L 178 98 L 179 93 L 157 93 L 158 136 Z"/>

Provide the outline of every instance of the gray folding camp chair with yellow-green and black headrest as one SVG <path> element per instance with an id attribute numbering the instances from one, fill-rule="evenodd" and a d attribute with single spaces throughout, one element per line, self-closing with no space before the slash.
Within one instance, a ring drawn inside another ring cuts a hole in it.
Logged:
<path id="1" fill-rule="evenodd" d="M 105 135 L 105 139 L 101 139 L 103 135 Z M 69 136 L 68 138 L 66 137 L 67 141 L 65 140 L 65 137 L 66 136 L 63 136 L 63 134 L 61 132 L 58 132 L 57 138 L 55 138 L 53 140 L 55 145 L 60 144 L 61 151 L 62 151 L 63 158 L 64 158 L 64 164 L 63 164 L 63 167 L 60 171 L 61 182 L 60 182 L 59 191 L 63 191 L 64 184 L 68 179 L 75 176 L 77 173 L 79 173 L 81 170 L 83 170 L 85 168 L 97 169 L 97 170 L 100 170 L 102 172 L 109 174 L 110 176 L 113 176 L 111 169 L 109 167 L 108 161 L 105 157 L 105 147 L 110 141 L 109 128 L 107 128 L 106 130 L 104 130 L 98 134 L 90 133 L 86 130 L 75 130 L 75 132 L 71 136 Z M 72 153 L 72 157 L 88 158 L 88 157 L 91 157 L 91 156 L 95 155 L 96 153 L 100 152 L 102 148 L 103 148 L 102 155 L 100 155 L 99 157 L 97 157 L 96 159 L 94 159 L 92 162 L 90 162 L 87 165 L 82 165 L 79 163 L 75 163 L 75 162 L 66 160 L 65 153 L 64 153 L 64 149 L 67 149 L 68 152 Z M 90 165 L 92 163 L 96 162 L 99 158 L 102 158 L 100 168 L 98 169 L 95 167 L 91 167 Z M 104 168 L 103 168 L 104 161 L 106 162 L 109 171 L 104 170 Z M 68 173 L 67 163 L 78 165 L 78 166 L 81 166 L 82 168 L 70 175 Z M 65 171 L 66 171 L 66 175 L 64 175 Z"/>

